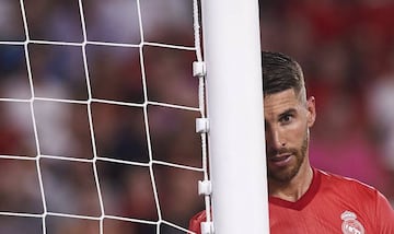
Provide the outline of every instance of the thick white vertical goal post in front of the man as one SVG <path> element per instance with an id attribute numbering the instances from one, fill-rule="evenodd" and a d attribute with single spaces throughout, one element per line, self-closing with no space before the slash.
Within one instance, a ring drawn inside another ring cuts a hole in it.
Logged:
<path id="1" fill-rule="evenodd" d="M 215 233 L 269 233 L 258 1 L 201 8 Z"/>

